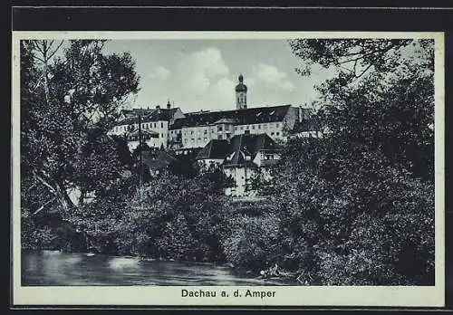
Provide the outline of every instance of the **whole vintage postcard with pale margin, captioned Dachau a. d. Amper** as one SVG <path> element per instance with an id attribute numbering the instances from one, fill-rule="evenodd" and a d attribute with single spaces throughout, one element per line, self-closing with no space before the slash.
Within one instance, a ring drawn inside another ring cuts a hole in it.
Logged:
<path id="1" fill-rule="evenodd" d="M 17 305 L 444 305 L 444 34 L 13 32 Z"/>

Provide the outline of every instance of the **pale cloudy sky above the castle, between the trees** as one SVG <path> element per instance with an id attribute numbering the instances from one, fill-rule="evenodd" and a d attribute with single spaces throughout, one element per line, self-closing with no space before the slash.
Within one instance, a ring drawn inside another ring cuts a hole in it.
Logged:
<path id="1" fill-rule="evenodd" d="M 234 110 L 240 73 L 248 87 L 247 107 L 309 104 L 313 85 L 330 76 L 321 68 L 310 77 L 294 69 L 302 61 L 285 40 L 111 40 L 104 52 L 130 52 L 140 75 L 131 108 L 165 106 L 183 112 Z"/>

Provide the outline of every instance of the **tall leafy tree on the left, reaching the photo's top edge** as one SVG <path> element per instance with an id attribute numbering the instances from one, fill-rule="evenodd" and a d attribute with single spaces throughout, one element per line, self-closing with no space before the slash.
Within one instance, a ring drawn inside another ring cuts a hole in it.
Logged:
<path id="1" fill-rule="evenodd" d="M 33 178 L 65 211 L 70 193 L 104 196 L 120 177 L 107 130 L 138 91 L 130 54 L 105 55 L 104 41 L 21 42 L 22 178 Z M 58 55 L 58 56 L 57 56 Z"/>

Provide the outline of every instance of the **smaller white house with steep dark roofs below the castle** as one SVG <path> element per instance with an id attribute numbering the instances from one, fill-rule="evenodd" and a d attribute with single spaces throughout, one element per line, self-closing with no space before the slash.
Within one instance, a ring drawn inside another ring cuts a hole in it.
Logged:
<path id="1" fill-rule="evenodd" d="M 212 139 L 196 157 L 200 165 L 215 163 L 222 167 L 227 177 L 232 177 L 236 186 L 227 187 L 226 196 L 254 196 L 253 180 L 258 173 L 280 159 L 280 149 L 266 133 L 241 134 L 230 140 Z"/>

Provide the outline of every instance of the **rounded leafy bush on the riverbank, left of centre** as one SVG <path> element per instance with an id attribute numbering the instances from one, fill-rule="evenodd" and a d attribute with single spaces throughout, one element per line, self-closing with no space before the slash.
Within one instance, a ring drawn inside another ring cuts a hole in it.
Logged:
<path id="1" fill-rule="evenodd" d="M 227 205 L 208 177 L 164 172 L 133 196 L 120 216 L 121 253 L 182 260 L 217 260 Z"/>

